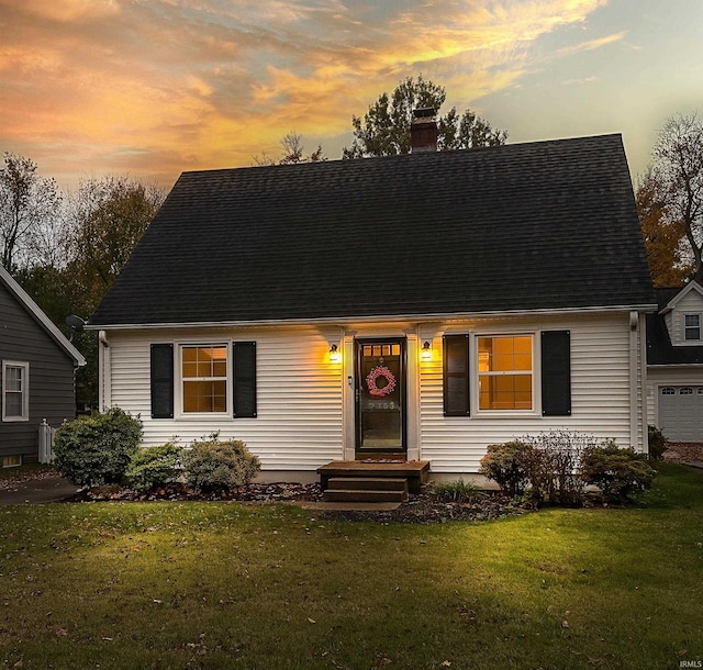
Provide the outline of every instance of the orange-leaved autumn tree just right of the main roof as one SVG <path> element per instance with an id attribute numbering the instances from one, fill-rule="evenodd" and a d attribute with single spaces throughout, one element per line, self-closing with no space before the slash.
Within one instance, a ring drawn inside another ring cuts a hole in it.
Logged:
<path id="1" fill-rule="evenodd" d="M 665 202 L 661 185 L 651 168 L 641 178 L 635 201 L 639 214 L 649 272 L 656 287 L 679 287 L 693 271 L 685 254 L 685 231 Z"/>

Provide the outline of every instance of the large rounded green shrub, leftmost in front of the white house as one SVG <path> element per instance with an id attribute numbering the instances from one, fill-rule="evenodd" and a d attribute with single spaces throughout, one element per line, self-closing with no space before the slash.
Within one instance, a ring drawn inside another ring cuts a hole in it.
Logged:
<path id="1" fill-rule="evenodd" d="M 55 466 L 71 483 L 119 482 L 142 439 L 142 422 L 112 407 L 64 424 L 56 431 Z"/>

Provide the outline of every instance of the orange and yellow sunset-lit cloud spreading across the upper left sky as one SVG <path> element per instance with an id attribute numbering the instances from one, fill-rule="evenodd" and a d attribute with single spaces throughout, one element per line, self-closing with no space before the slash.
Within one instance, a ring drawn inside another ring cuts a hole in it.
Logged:
<path id="1" fill-rule="evenodd" d="M 464 107 L 550 58 L 610 45 L 624 33 L 539 48 L 605 4 L 0 0 L 0 147 L 65 179 L 131 170 L 168 183 L 250 165 L 291 130 L 342 136 L 406 76 Z"/>

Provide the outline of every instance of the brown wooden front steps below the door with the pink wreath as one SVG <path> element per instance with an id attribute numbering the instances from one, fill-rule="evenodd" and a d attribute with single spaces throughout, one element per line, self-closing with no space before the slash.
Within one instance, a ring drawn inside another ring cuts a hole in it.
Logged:
<path id="1" fill-rule="evenodd" d="M 325 502 L 403 502 L 426 483 L 429 461 L 333 460 L 317 473 Z"/>

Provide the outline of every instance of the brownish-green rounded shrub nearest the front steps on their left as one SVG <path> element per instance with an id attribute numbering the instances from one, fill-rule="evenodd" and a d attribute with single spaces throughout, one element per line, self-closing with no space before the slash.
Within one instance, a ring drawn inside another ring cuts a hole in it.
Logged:
<path id="1" fill-rule="evenodd" d="M 261 469 L 258 457 L 243 442 L 220 442 L 216 434 L 196 440 L 182 460 L 186 481 L 197 491 L 230 491 L 248 483 Z"/>

